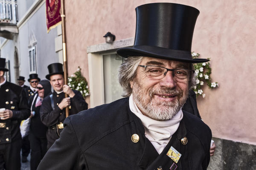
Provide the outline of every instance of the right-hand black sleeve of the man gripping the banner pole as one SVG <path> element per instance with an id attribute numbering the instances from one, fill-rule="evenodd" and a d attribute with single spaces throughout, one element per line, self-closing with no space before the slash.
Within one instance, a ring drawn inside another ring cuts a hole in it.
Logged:
<path id="1" fill-rule="evenodd" d="M 84 101 L 84 98 L 80 91 L 73 90 L 75 93 L 75 96 L 70 98 L 71 106 L 76 108 L 76 113 L 79 113 L 80 111 L 84 111 L 88 108 L 88 104 Z"/>

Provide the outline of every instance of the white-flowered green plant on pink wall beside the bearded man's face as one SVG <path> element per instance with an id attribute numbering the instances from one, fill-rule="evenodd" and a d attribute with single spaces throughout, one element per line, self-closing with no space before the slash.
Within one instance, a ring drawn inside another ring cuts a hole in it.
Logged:
<path id="1" fill-rule="evenodd" d="M 194 59 L 198 58 L 200 54 L 192 52 L 192 57 Z M 210 58 L 207 58 L 210 59 Z M 206 96 L 204 91 L 202 90 L 203 85 L 206 83 L 210 89 L 217 88 L 218 82 L 212 82 L 212 78 L 210 74 L 212 73 L 212 68 L 210 67 L 210 62 L 203 62 L 203 63 L 195 63 L 193 64 L 195 68 L 195 78 L 196 78 L 196 85 L 193 87 L 195 94 L 201 95 L 203 98 Z"/>

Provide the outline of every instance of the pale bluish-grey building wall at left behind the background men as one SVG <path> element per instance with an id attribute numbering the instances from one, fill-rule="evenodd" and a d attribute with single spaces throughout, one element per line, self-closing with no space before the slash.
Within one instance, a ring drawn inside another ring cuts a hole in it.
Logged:
<path id="1" fill-rule="evenodd" d="M 57 28 L 53 28 L 47 34 L 46 26 L 46 5 L 44 0 L 28 0 L 26 3 L 18 1 L 18 16 L 17 23 L 19 34 L 13 40 L 1 45 L 1 57 L 10 60 L 11 82 L 15 83 L 14 72 L 14 51 L 17 48 L 19 57 L 19 72 L 20 76 L 26 79 L 25 84 L 29 85 L 29 44 L 31 40 L 36 42 L 37 55 L 37 74 L 41 79 L 46 79 L 48 74 L 47 66 L 53 62 L 59 62 L 58 53 L 55 52 L 55 38 L 58 37 Z M 35 5 L 37 4 L 37 5 Z M 31 9 L 34 6 L 33 9 Z M 31 9 L 32 13 L 26 16 L 27 11 Z M 33 38 L 32 38 L 33 37 Z M 1 40 L 3 43 L 4 40 Z"/>

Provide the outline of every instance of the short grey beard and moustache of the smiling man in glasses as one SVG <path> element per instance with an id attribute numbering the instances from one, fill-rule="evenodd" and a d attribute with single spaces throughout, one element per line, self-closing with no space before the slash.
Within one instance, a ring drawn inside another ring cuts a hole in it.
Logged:
<path id="1" fill-rule="evenodd" d="M 174 102 L 155 102 L 153 98 L 156 93 L 177 95 L 177 99 Z M 188 91 L 184 94 L 182 90 L 170 88 L 150 88 L 147 91 L 143 89 L 137 79 L 134 79 L 132 94 L 134 96 L 134 102 L 145 116 L 155 120 L 169 120 L 183 107 L 188 96 Z"/>

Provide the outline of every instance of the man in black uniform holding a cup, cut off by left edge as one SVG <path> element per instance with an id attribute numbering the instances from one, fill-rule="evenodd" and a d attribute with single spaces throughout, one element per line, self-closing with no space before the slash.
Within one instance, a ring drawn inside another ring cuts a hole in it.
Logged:
<path id="1" fill-rule="evenodd" d="M 4 78 L 5 59 L 0 58 L 0 170 L 20 170 L 20 121 L 30 116 L 22 87 Z"/>

